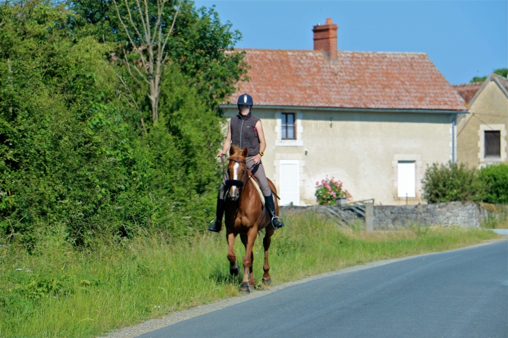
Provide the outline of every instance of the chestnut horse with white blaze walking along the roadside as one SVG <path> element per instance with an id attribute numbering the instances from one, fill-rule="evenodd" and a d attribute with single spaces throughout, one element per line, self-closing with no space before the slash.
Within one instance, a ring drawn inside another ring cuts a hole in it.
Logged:
<path id="1" fill-rule="evenodd" d="M 231 275 L 238 275 L 239 266 L 237 256 L 235 255 L 235 239 L 240 234 L 241 242 L 245 246 L 244 256 L 244 279 L 241 281 L 240 291 L 249 293 L 255 287 L 253 274 L 253 246 L 257 239 L 257 232 L 265 229 L 263 238 L 264 247 L 264 265 L 263 265 L 263 283 L 271 284 L 269 274 L 270 266 L 268 264 L 268 249 L 270 248 L 271 235 L 273 235 L 273 226 L 268 212 L 262 209 L 261 197 L 257 192 L 251 177 L 250 170 L 246 170 L 247 148 L 240 150 L 239 147 L 232 145 L 230 147 L 230 157 L 228 163 L 229 178 L 226 181 L 228 191 L 225 195 L 225 229 L 226 239 L 228 240 L 228 260 L 230 261 Z M 255 170 L 255 169 L 254 169 Z M 273 192 L 276 188 L 268 180 L 268 184 Z M 264 202 L 264 201 L 263 201 Z M 278 203 L 274 198 L 276 215 L 278 215 Z M 266 208 L 266 207 L 265 207 Z"/>

